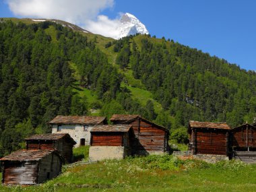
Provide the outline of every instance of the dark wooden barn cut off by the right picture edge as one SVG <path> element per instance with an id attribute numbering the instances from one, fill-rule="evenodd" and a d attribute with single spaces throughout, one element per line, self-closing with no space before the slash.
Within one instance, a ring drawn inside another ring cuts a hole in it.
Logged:
<path id="1" fill-rule="evenodd" d="M 230 151 L 235 159 L 256 162 L 256 127 L 246 123 L 231 129 Z"/>

